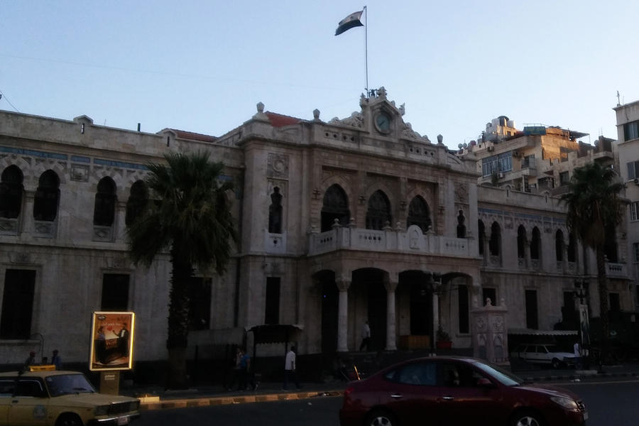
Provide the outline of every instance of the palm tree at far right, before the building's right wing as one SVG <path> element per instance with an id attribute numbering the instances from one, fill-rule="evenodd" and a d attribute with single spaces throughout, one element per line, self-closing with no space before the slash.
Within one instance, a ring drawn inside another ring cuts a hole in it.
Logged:
<path id="1" fill-rule="evenodd" d="M 574 169 L 568 184 L 569 192 L 562 195 L 562 201 L 567 206 L 569 231 L 583 244 L 594 249 L 596 254 L 603 360 L 608 359 L 610 353 L 606 229 L 616 229 L 621 224 L 625 203 L 619 193 L 623 187 L 613 169 L 594 162 Z"/>

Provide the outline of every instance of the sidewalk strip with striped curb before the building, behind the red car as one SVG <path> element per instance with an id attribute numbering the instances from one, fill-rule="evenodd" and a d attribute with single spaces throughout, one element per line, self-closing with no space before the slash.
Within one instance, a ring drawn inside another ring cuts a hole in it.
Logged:
<path id="1" fill-rule="evenodd" d="M 530 365 L 526 369 L 515 369 L 515 375 L 527 382 L 544 381 L 584 381 L 599 378 L 639 377 L 639 364 L 626 363 L 618 366 L 603 366 L 601 371 L 574 369 L 544 369 Z M 131 386 L 121 388 L 122 395 L 141 400 L 141 410 L 161 410 L 170 408 L 199 407 L 204 405 L 226 405 L 242 403 L 263 403 L 278 400 L 300 400 L 341 396 L 346 389 L 344 381 L 330 383 L 301 383 L 300 390 L 283 390 L 282 383 L 259 383 L 255 391 L 226 391 L 221 385 L 202 385 L 181 391 L 166 391 L 155 387 Z"/>

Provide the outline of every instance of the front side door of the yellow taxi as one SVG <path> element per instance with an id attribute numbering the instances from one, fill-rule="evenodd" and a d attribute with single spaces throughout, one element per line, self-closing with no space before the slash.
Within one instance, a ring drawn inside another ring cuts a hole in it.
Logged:
<path id="1" fill-rule="evenodd" d="M 11 398 L 8 424 L 11 426 L 45 425 L 49 398 L 42 381 L 35 377 L 21 377 Z"/>

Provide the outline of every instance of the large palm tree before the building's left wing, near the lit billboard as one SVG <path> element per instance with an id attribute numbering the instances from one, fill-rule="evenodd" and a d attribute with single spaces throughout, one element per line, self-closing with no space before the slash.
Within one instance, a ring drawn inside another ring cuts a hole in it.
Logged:
<path id="1" fill-rule="evenodd" d="M 147 165 L 145 182 L 154 200 L 127 229 L 127 244 L 136 265 L 149 267 L 156 256 L 170 253 L 168 386 L 185 388 L 194 266 L 224 273 L 237 237 L 225 194 L 232 184 L 219 183 L 224 165 L 209 161 L 207 153 L 170 153 L 165 160 L 166 165 Z"/>

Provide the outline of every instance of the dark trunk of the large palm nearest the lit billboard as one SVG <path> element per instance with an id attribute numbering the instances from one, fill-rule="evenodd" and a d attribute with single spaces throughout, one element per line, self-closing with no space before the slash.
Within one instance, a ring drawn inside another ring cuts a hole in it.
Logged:
<path id="1" fill-rule="evenodd" d="M 189 284 L 192 266 L 171 250 L 171 289 L 168 316 L 168 388 L 185 389 L 187 383 L 186 350 L 189 333 Z"/>

